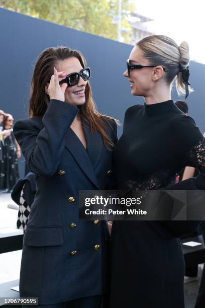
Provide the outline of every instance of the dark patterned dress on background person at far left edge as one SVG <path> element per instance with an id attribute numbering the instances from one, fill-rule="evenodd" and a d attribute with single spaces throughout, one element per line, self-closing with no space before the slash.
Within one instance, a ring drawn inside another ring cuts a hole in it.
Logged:
<path id="1" fill-rule="evenodd" d="M 14 133 L 4 140 L 2 161 L 2 189 L 11 191 L 19 179 L 17 148 Z"/>

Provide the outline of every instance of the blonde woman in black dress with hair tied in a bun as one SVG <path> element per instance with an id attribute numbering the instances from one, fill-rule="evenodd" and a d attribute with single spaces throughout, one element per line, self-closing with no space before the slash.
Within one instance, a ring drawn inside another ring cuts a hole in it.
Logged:
<path id="1" fill-rule="evenodd" d="M 139 41 L 124 76 L 145 99 L 126 111 L 114 149 L 119 189 L 204 189 L 204 137 L 171 99 L 172 83 L 188 95 L 188 44 L 153 35 Z M 185 166 L 200 175 L 174 185 Z M 167 188 L 166 188 L 167 189 Z M 183 308 L 184 259 L 178 237 L 195 221 L 114 221 L 111 308 Z"/>

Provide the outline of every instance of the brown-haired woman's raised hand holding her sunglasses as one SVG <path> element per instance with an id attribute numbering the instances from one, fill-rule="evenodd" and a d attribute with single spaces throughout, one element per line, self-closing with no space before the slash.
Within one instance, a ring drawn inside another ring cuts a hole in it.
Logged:
<path id="1" fill-rule="evenodd" d="M 48 86 L 48 94 L 51 100 L 65 101 L 65 90 L 68 85 L 66 83 L 61 84 L 61 86 L 59 85 L 59 82 L 65 79 L 65 76 L 65 72 L 58 72 L 54 67 L 54 74 L 51 76 L 50 84 Z"/>

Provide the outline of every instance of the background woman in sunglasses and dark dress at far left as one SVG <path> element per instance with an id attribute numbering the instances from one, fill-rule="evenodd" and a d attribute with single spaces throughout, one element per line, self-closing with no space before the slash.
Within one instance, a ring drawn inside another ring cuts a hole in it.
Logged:
<path id="1" fill-rule="evenodd" d="M 11 192 L 19 179 L 18 158 L 21 157 L 21 148 L 13 133 L 14 118 L 11 114 L 5 114 L 4 129 L 8 134 L 4 135 L 4 153 L 2 161 L 3 184 L 5 192 Z"/>

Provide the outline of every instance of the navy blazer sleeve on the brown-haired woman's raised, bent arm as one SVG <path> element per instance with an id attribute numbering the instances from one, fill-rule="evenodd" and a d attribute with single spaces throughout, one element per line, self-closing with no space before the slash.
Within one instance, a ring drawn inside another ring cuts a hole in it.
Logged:
<path id="1" fill-rule="evenodd" d="M 42 118 L 43 129 L 35 118 L 16 122 L 14 134 L 33 173 L 51 177 L 56 172 L 65 146 L 64 136 L 77 113 L 76 106 L 51 100 Z"/>

